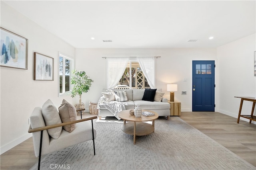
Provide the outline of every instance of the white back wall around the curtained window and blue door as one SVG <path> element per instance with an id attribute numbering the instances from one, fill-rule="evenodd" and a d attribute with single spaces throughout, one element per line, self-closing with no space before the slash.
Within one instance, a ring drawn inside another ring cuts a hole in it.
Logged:
<path id="1" fill-rule="evenodd" d="M 82 95 L 87 108 L 89 101 L 97 102 L 102 88 L 106 88 L 106 59 L 102 57 L 137 56 L 161 56 L 156 59 L 156 88 L 162 88 L 164 97 L 169 99 L 166 84 L 178 84 L 175 100 L 181 102 L 182 111 L 192 111 L 192 60 L 217 59 L 216 48 L 76 49 L 76 69 L 84 70 L 94 80 L 90 91 Z M 183 82 L 184 78 L 187 82 Z M 181 91 L 187 91 L 187 95 L 181 95 Z"/>

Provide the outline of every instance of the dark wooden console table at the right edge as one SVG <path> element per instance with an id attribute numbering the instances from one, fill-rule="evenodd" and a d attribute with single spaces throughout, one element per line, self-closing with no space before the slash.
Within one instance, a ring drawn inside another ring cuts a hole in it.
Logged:
<path id="1" fill-rule="evenodd" d="M 250 119 L 250 123 L 252 123 L 252 120 L 256 121 L 256 116 L 253 115 L 254 108 L 255 108 L 255 103 L 256 103 L 256 98 L 253 98 L 253 97 L 235 97 L 235 98 L 241 98 L 240 108 L 239 108 L 239 113 L 238 113 L 238 118 L 237 118 L 237 123 L 239 123 L 240 117 L 244 117 L 246 119 Z M 242 111 L 242 106 L 243 106 L 244 100 L 253 102 L 251 115 L 241 115 L 241 111 Z"/>

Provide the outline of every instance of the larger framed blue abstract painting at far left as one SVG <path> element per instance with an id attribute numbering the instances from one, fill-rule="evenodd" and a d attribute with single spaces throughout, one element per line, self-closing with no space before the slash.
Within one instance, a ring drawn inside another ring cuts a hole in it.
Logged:
<path id="1" fill-rule="evenodd" d="M 28 69 L 28 39 L 0 27 L 0 66 Z"/>

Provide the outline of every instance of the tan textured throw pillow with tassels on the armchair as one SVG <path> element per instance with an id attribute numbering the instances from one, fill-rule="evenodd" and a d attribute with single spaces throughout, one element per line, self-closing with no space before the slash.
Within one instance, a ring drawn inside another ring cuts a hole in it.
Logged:
<path id="1" fill-rule="evenodd" d="M 76 108 L 72 106 L 72 104 L 68 103 L 65 99 L 62 100 L 62 104 L 58 109 L 62 123 L 76 120 Z M 70 133 L 74 131 L 75 127 L 76 123 L 63 126 L 63 129 Z"/>

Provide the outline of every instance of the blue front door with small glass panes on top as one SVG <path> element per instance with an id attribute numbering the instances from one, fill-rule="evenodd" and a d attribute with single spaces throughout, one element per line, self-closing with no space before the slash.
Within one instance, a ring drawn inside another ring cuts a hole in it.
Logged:
<path id="1" fill-rule="evenodd" d="M 192 111 L 214 111 L 215 62 L 192 61 Z"/>

